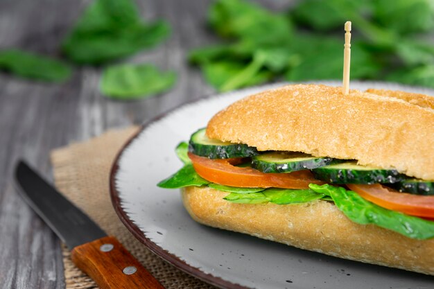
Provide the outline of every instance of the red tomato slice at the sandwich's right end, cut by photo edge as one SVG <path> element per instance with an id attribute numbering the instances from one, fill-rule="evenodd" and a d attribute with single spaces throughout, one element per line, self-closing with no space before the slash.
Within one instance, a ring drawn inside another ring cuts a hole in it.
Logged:
<path id="1" fill-rule="evenodd" d="M 400 193 L 381 184 L 347 184 L 362 198 L 380 207 L 400 211 L 411 216 L 434 218 L 434 196 Z"/>

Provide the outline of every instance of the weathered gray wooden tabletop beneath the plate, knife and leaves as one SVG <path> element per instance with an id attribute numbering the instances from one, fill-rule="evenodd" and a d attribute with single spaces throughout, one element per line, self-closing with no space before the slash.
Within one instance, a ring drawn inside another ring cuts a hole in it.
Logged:
<path id="1" fill-rule="evenodd" d="M 0 288 L 64 288 L 58 238 L 19 198 L 12 170 L 26 159 L 51 177 L 49 153 L 107 128 L 142 123 L 181 103 L 212 93 L 200 72 L 186 64 L 189 49 L 214 37 L 205 28 L 210 1 L 139 0 L 146 19 L 167 19 L 173 34 L 162 46 L 130 62 L 175 69 L 175 88 L 132 102 L 109 100 L 98 92 L 100 72 L 83 67 L 62 85 L 20 80 L 0 73 Z M 272 9 L 288 1 L 261 1 Z M 267 3 L 269 2 L 269 3 Z M 19 47 L 58 56 L 58 44 L 89 1 L 0 0 L 0 49 Z"/>

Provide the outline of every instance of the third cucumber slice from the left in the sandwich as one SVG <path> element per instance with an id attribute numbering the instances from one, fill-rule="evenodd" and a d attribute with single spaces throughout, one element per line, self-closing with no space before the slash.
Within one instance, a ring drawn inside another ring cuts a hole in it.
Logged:
<path id="1" fill-rule="evenodd" d="M 323 166 L 313 169 L 312 172 L 315 178 L 331 184 L 393 184 L 405 178 L 397 170 L 359 166 L 356 161 Z"/>

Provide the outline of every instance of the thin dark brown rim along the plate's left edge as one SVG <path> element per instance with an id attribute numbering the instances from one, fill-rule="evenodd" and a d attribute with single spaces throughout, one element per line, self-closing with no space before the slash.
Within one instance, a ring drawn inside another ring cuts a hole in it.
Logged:
<path id="1" fill-rule="evenodd" d="M 250 87 L 252 88 L 252 87 Z M 212 274 L 205 273 L 201 271 L 199 268 L 194 267 L 193 265 L 189 265 L 186 263 L 186 261 L 182 261 L 179 257 L 177 257 L 175 254 L 172 254 L 171 252 L 168 252 L 167 250 L 163 249 L 162 247 L 159 247 L 159 245 L 155 244 L 150 238 L 147 238 L 146 235 L 137 227 L 137 225 L 134 224 L 134 222 L 128 217 L 127 213 L 122 209 L 121 207 L 121 198 L 119 197 L 119 191 L 116 189 L 116 174 L 119 171 L 119 161 L 125 152 L 125 149 L 130 146 L 132 141 L 136 139 L 139 134 L 144 132 L 146 128 L 148 128 L 150 125 L 155 123 L 156 121 L 159 121 L 160 119 L 163 119 L 168 114 L 171 114 L 171 112 L 174 112 L 175 110 L 179 110 L 180 108 L 191 105 L 193 103 L 197 103 L 200 100 L 206 100 L 213 97 L 218 97 L 222 94 L 214 93 L 214 94 L 208 94 L 206 96 L 202 96 L 197 99 L 193 100 L 187 100 L 186 102 L 177 105 L 176 107 L 173 107 L 170 110 L 166 110 L 166 112 L 162 112 L 161 114 L 158 114 L 153 119 L 150 119 L 149 121 L 146 121 L 145 123 L 141 124 L 139 126 L 139 130 L 135 132 L 129 139 L 126 141 L 123 146 L 119 149 L 119 151 L 116 153 L 116 157 L 114 157 L 114 161 L 112 162 L 112 168 L 110 169 L 110 200 L 112 201 L 112 206 L 114 208 L 114 211 L 116 211 L 117 216 L 123 223 L 123 225 L 132 233 L 132 235 L 139 240 L 140 243 L 144 244 L 148 249 L 150 249 L 151 252 L 156 254 L 159 258 L 161 258 L 163 261 L 166 261 L 167 263 L 173 265 L 175 268 L 189 274 L 192 277 L 198 278 L 205 283 L 211 284 L 212 286 L 217 286 L 218 288 L 227 288 L 227 289 L 252 289 L 250 287 L 245 287 L 237 283 L 233 283 L 230 281 L 227 281 L 223 278 L 216 277 Z"/>

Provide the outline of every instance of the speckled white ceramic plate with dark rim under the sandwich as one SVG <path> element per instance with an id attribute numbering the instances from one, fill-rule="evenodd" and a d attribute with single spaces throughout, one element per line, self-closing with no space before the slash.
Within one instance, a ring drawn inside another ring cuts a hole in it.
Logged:
<path id="1" fill-rule="evenodd" d="M 203 98 L 144 125 L 121 150 L 112 169 L 112 200 L 122 222 L 157 255 L 221 288 L 433 288 L 434 278 L 423 274 L 347 261 L 199 225 L 182 207 L 177 190 L 156 186 L 182 167 L 174 151 L 180 141 L 188 140 L 192 132 L 205 127 L 211 116 L 235 100 L 279 85 Z M 430 89 L 351 82 L 354 89 L 370 87 L 434 95 Z"/>

